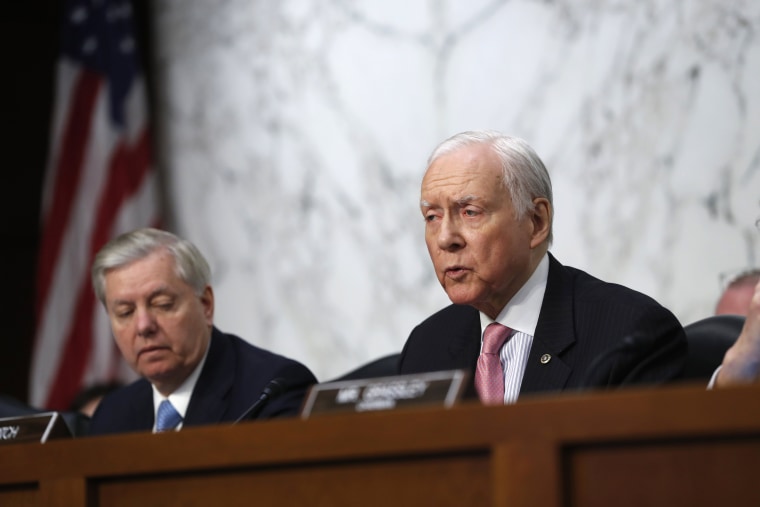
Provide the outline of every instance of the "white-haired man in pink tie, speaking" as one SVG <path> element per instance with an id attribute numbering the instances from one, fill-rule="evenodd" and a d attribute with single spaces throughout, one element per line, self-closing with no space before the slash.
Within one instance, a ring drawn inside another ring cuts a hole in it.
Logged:
<path id="1" fill-rule="evenodd" d="M 454 304 L 411 332 L 401 373 L 471 371 L 469 394 L 488 404 L 680 374 L 686 338 L 670 311 L 549 253 L 551 180 L 525 141 L 494 131 L 447 139 L 428 160 L 420 206 Z"/>

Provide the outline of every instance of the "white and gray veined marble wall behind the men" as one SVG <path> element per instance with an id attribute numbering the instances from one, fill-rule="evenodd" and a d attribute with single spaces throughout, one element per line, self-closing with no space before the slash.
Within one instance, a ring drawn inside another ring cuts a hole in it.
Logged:
<path id="1" fill-rule="evenodd" d="M 216 322 L 328 380 L 448 303 L 425 160 L 523 137 L 553 253 L 712 312 L 760 263 L 760 2 L 156 0 L 168 223 L 208 255 Z"/>

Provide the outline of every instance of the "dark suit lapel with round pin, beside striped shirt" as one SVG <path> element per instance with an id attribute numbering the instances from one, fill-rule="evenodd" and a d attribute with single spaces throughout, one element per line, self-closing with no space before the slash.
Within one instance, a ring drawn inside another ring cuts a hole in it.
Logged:
<path id="1" fill-rule="evenodd" d="M 548 255 L 546 292 L 520 387 L 521 395 L 560 390 L 572 371 L 561 359 L 561 354 L 575 343 L 573 281 L 565 268 L 551 254 Z"/>

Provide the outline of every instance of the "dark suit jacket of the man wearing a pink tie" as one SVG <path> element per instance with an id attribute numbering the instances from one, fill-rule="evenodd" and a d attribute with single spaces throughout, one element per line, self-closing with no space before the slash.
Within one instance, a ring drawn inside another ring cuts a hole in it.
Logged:
<path id="1" fill-rule="evenodd" d="M 480 354 L 480 317 L 451 305 L 419 324 L 401 354 L 400 373 L 464 369 L 472 384 Z M 551 359 L 545 364 L 544 354 Z M 661 383 L 687 355 L 676 317 L 649 296 L 563 266 L 549 254 L 544 301 L 520 397 L 568 389 Z"/>

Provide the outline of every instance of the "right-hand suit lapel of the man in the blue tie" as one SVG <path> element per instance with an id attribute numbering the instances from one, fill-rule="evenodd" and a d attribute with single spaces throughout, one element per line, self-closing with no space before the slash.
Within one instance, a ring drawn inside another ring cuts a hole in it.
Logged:
<path id="1" fill-rule="evenodd" d="M 216 328 L 211 333 L 206 363 L 187 406 L 184 425 L 213 424 L 227 410 L 227 394 L 232 388 L 235 356 L 227 337 Z"/>

